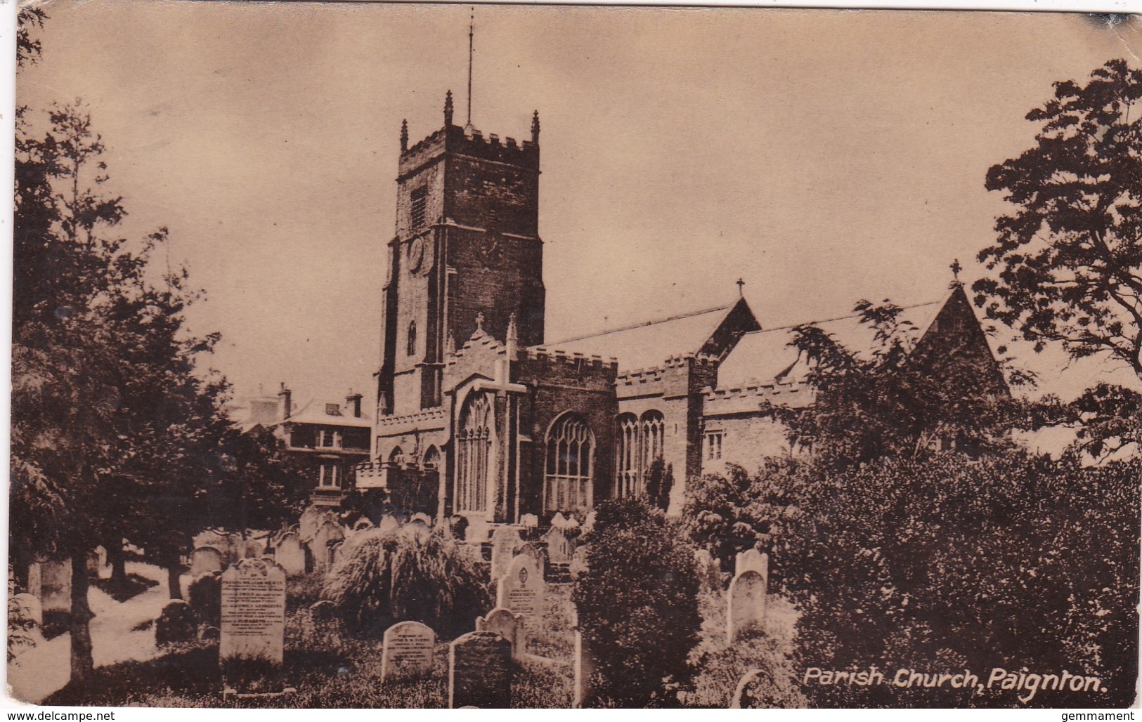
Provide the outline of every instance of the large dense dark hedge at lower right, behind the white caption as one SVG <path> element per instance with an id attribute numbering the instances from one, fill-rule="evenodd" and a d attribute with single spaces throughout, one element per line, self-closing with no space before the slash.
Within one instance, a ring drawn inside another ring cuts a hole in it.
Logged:
<path id="1" fill-rule="evenodd" d="M 984 683 L 994 667 L 1067 670 L 1107 690 L 807 684 L 815 705 L 1126 706 L 1139 658 L 1140 473 L 1140 462 L 941 454 L 849 471 L 774 465 L 740 496 L 707 478 L 695 498 L 714 500 L 722 528 L 764 529 L 771 589 L 801 611 L 798 670 L 876 665 L 891 680 L 900 668 L 968 668 Z"/>

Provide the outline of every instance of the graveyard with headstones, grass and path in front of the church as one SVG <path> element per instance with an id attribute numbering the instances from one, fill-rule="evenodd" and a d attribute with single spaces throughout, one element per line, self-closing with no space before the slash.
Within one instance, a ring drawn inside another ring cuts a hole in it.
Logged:
<path id="1" fill-rule="evenodd" d="M 66 633 L 21 652 L 11 681 L 17 696 L 58 705 L 620 706 L 589 697 L 597 660 L 572 601 L 587 569 L 592 522 L 558 514 L 544 529 L 499 525 L 457 538 L 450 525 L 434 526 L 426 516 L 346 524 L 311 509 L 275 534 L 206 532 L 184 559 L 185 599 L 169 599 L 166 570 L 142 562 L 130 562 L 130 570 L 153 581 L 145 592 L 118 602 L 93 586 L 94 683 L 66 686 Z M 478 585 L 472 606 L 434 617 L 439 605 L 432 590 L 421 590 L 417 603 L 401 607 L 394 595 L 392 608 L 354 617 L 359 610 L 348 606 L 360 602 L 338 595 L 331 579 L 355 578 L 362 565 L 375 565 L 370 549 L 393 565 L 394 590 L 407 577 L 405 550 L 416 563 L 452 559 L 460 567 L 449 574 L 471 574 Z M 707 552 L 692 562 L 701 579 L 701 632 L 692 652 L 700 662 L 686 690 L 654 706 L 733 706 L 743 678 L 762 675 L 769 690 L 770 676 L 787 667 L 796 615 L 786 600 L 766 598 L 767 559 L 756 550 L 739 554 L 732 574 Z M 88 571 L 95 579 L 110 573 L 100 559 Z M 48 587 L 37 609 L 42 619 L 66 594 L 53 587 L 50 569 L 37 574 L 41 586 L 26 597 L 34 607 Z M 123 646 L 124 635 L 131 646 Z M 100 656 L 112 647 L 118 657 Z M 55 676 L 31 681 L 53 665 Z M 765 695 L 772 701 L 775 692 Z"/>

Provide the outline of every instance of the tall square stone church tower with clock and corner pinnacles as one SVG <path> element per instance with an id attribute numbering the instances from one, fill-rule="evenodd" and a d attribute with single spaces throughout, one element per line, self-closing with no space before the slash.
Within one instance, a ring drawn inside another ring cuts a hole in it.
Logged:
<path id="1" fill-rule="evenodd" d="M 441 405 L 445 355 L 481 324 L 505 341 L 512 316 L 521 346 L 544 341 L 539 238 L 539 114 L 531 140 L 484 137 L 452 123 L 409 146 L 401 125 L 396 236 L 384 286 L 381 414 Z"/>

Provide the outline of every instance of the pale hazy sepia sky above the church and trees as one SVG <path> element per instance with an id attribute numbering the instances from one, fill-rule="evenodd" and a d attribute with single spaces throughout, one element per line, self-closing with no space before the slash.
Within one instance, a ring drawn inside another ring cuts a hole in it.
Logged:
<path id="1" fill-rule="evenodd" d="M 466 102 L 467 6 L 54 0 L 33 109 L 81 98 L 130 237 L 222 332 L 239 398 L 372 399 L 400 125 Z M 987 169 L 1052 82 L 1137 63 L 1085 15 L 477 6 L 473 124 L 539 111 L 547 339 L 732 301 L 763 326 L 942 298 L 995 238 Z M 460 121 L 463 123 L 463 121 Z"/>

